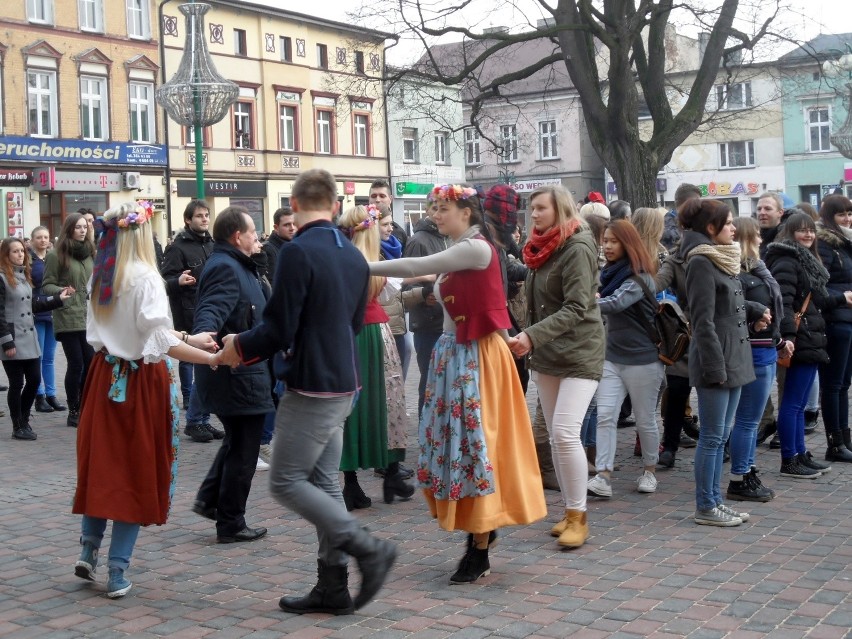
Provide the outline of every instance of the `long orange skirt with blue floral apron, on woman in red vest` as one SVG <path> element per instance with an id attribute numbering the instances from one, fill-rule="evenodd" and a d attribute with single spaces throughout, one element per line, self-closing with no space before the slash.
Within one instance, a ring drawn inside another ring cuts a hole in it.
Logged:
<path id="1" fill-rule="evenodd" d="M 497 333 L 438 339 L 419 439 L 418 482 L 442 528 L 482 533 L 546 516 L 526 399 Z"/>

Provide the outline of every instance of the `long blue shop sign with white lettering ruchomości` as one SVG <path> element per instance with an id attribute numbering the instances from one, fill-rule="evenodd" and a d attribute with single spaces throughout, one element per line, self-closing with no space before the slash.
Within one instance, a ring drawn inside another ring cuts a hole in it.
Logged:
<path id="1" fill-rule="evenodd" d="M 0 137 L 0 161 L 9 160 L 141 167 L 166 166 L 168 157 L 166 147 L 161 144 Z"/>

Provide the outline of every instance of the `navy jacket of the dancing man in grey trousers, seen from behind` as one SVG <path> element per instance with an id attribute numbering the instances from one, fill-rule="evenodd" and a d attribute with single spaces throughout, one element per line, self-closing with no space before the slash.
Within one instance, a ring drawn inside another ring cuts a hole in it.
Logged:
<path id="1" fill-rule="evenodd" d="M 275 355 L 288 390 L 355 392 L 369 281 L 367 261 L 330 221 L 303 226 L 281 246 L 263 323 L 237 336 L 237 352 L 246 363 Z"/>

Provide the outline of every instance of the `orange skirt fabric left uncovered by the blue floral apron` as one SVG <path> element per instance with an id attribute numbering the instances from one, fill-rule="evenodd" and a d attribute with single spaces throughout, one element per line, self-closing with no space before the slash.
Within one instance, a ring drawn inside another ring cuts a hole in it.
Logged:
<path id="1" fill-rule="evenodd" d="M 495 490 L 459 500 L 435 499 L 423 491 L 433 517 L 445 530 L 484 533 L 530 524 L 547 516 L 530 414 L 518 371 L 497 333 L 479 340 L 479 394 Z"/>

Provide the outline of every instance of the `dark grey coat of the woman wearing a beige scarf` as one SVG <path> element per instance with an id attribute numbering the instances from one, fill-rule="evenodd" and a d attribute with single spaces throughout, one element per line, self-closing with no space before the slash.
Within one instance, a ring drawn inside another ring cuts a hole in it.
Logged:
<path id="1" fill-rule="evenodd" d="M 684 231 L 681 255 L 689 255 L 699 244 L 711 241 L 701 233 Z M 692 325 L 690 385 L 737 388 L 753 382 L 748 322 L 763 315 L 766 307 L 748 302 L 739 277 L 722 272 L 703 255 L 686 262 L 686 294 Z"/>

